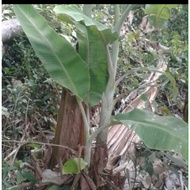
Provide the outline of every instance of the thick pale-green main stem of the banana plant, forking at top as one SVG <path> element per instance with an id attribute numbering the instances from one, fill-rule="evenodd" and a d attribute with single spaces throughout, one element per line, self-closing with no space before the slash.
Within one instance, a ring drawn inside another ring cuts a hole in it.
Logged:
<path id="1" fill-rule="evenodd" d="M 125 11 L 122 13 L 120 17 L 120 6 L 119 4 L 115 5 L 115 15 L 114 15 L 114 30 L 119 34 L 121 30 L 121 26 L 124 23 L 126 16 L 129 14 L 129 11 L 136 5 L 128 5 Z M 113 102 L 113 93 L 115 91 L 115 76 L 117 72 L 117 60 L 119 55 L 119 40 L 116 40 L 112 45 L 112 54 L 110 55 L 110 51 L 107 48 L 107 57 L 108 57 L 108 73 L 109 73 L 109 81 L 106 87 L 105 92 L 102 95 L 102 110 L 100 113 L 100 122 L 99 128 L 100 133 L 98 134 L 97 140 L 100 142 L 107 142 L 108 135 L 108 126 L 111 121 L 111 112 L 112 112 L 112 102 Z M 94 135 L 95 136 L 95 135 Z"/>

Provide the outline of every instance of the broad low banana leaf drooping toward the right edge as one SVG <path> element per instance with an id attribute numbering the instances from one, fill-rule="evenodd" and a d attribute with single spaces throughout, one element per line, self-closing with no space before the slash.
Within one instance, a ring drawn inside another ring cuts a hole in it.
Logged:
<path id="1" fill-rule="evenodd" d="M 134 109 L 117 114 L 113 120 L 133 129 L 147 147 L 174 151 L 188 160 L 188 126 L 182 119 Z"/>

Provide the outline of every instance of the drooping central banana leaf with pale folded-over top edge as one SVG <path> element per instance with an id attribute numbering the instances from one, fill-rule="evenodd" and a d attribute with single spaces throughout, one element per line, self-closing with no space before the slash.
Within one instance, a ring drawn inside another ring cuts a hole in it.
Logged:
<path id="1" fill-rule="evenodd" d="M 55 13 L 61 21 L 73 24 L 77 29 L 78 53 L 87 63 L 90 74 L 90 91 L 85 99 L 89 106 L 96 105 L 106 88 L 109 74 L 107 45 L 115 41 L 117 33 L 92 20 L 75 5 L 56 6 Z"/>

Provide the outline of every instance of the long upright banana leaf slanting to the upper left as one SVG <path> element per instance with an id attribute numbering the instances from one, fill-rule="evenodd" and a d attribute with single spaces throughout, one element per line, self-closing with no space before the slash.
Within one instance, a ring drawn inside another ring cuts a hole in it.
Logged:
<path id="1" fill-rule="evenodd" d="M 32 5 L 13 5 L 13 9 L 49 75 L 82 101 L 90 89 L 89 68 L 84 60 L 65 38 L 48 25 Z"/>

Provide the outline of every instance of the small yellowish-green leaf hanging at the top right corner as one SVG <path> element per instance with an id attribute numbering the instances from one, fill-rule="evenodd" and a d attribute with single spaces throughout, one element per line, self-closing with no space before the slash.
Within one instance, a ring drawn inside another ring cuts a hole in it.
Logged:
<path id="1" fill-rule="evenodd" d="M 148 20 L 152 26 L 163 29 L 170 18 L 170 9 L 176 7 L 177 4 L 146 4 L 145 14 L 149 15 Z"/>

